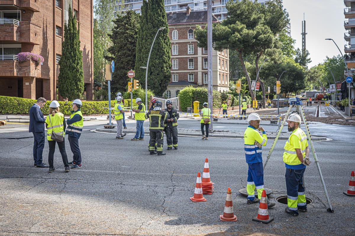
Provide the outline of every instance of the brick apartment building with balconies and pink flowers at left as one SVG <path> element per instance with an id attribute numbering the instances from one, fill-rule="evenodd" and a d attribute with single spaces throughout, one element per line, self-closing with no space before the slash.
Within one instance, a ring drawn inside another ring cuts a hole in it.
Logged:
<path id="1" fill-rule="evenodd" d="M 93 99 L 93 0 L 0 0 L 0 95 L 56 99 L 69 10 L 80 24 L 85 91 Z M 20 52 L 41 55 L 44 62 L 20 63 Z"/>

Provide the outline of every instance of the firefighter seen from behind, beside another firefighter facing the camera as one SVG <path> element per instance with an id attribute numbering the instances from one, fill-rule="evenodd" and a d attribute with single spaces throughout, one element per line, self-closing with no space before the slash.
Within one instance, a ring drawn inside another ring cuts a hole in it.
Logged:
<path id="1" fill-rule="evenodd" d="M 157 143 L 157 153 L 158 156 L 165 155 L 163 153 L 163 130 L 164 121 L 168 118 L 168 112 L 162 110 L 162 102 L 156 101 L 154 109 L 148 111 L 146 114 L 146 119 L 149 119 L 149 131 L 151 139 L 149 140 L 149 154 L 155 154 L 154 147 L 155 142 Z"/>

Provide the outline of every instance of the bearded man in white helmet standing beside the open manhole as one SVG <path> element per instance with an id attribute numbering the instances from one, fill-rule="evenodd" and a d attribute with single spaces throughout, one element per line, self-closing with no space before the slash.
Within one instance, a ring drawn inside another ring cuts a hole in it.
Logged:
<path id="1" fill-rule="evenodd" d="M 283 161 L 286 166 L 287 207 L 285 212 L 297 216 L 298 210 L 307 211 L 303 174 L 311 161 L 308 158 L 307 136 L 299 127 L 301 117 L 293 113 L 287 119 L 288 131 L 292 132 L 284 147 Z"/>

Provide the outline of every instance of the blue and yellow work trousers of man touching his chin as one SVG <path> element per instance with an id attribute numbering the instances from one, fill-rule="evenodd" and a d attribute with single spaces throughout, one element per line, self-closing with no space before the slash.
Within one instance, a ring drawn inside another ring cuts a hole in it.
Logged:
<path id="1" fill-rule="evenodd" d="M 254 200 L 254 189 L 258 192 L 258 198 L 261 198 L 261 193 L 264 190 L 264 169 L 263 163 L 248 163 L 248 179 L 246 190 L 248 192 L 248 199 Z"/>

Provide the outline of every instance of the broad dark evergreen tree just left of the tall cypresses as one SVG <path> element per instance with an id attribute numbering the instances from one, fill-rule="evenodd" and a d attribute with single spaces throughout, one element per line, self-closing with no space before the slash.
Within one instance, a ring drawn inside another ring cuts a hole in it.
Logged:
<path id="1" fill-rule="evenodd" d="M 140 15 L 135 11 L 126 11 L 126 15 L 117 15 L 114 20 L 112 34 L 109 34 L 113 45 L 108 49 L 112 56 L 105 57 L 115 61 L 115 72 L 112 75 L 111 92 L 124 93 L 126 90 L 127 72 L 135 67 L 136 43 Z"/>

